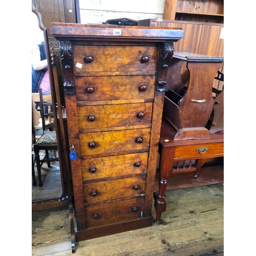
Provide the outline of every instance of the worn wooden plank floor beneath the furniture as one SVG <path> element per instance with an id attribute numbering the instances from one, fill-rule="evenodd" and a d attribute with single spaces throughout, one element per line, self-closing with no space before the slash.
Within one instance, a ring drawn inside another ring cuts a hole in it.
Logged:
<path id="1" fill-rule="evenodd" d="M 160 223 L 153 206 L 151 227 L 81 241 L 75 253 L 68 208 L 32 212 L 32 255 L 224 255 L 223 187 L 169 190 Z"/>

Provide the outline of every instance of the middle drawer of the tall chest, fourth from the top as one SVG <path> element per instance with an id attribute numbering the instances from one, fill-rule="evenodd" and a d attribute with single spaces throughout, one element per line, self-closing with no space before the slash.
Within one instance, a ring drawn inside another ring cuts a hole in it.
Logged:
<path id="1" fill-rule="evenodd" d="M 82 158 L 148 150 L 150 128 L 79 134 Z"/>

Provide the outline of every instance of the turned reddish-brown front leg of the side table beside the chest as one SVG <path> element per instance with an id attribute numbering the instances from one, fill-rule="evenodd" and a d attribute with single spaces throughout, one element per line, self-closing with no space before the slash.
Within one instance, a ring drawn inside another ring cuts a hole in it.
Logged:
<path id="1" fill-rule="evenodd" d="M 167 181 L 172 173 L 174 151 L 174 147 L 162 146 L 159 162 L 159 190 L 158 193 L 154 194 L 154 206 L 157 212 L 156 221 L 161 220 L 161 215 L 166 209 L 166 202 L 164 198 L 167 188 Z"/>

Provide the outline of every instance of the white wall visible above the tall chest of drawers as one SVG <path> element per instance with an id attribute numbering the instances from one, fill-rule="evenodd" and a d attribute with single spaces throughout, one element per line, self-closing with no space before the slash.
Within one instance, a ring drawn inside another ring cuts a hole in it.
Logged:
<path id="1" fill-rule="evenodd" d="M 164 0 L 79 0 L 81 24 L 102 24 L 108 19 L 162 19 Z"/>

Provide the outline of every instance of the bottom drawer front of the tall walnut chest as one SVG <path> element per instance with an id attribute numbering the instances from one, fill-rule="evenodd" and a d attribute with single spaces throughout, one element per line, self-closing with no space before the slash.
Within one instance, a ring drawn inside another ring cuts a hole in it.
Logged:
<path id="1" fill-rule="evenodd" d="M 119 221 L 141 218 L 144 198 L 86 207 L 86 225 L 94 227 Z"/>

